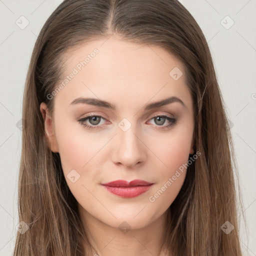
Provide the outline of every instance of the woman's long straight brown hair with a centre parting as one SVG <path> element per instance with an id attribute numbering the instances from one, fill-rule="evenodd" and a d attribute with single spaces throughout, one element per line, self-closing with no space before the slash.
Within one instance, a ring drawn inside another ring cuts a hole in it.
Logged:
<path id="1" fill-rule="evenodd" d="M 163 248 L 173 256 L 241 256 L 227 113 L 207 41 L 177 0 L 64 0 L 46 20 L 23 95 L 18 212 L 29 229 L 17 232 L 14 256 L 84 256 L 85 246 L 92 255 L 90 234 L 82 226 L 59 154 L 47 144 L 39 105 L 45 102 L 52 113 L 54 98 L 47 94 L 58 85 L 67 49 L 112 34 L 160 46 L 178 58 L 193 99 L 194 149 L 200 156 L 188 166 L 169 206 Z M 226 221 L 234 227 L 228 234 L 221 229 Z"/>

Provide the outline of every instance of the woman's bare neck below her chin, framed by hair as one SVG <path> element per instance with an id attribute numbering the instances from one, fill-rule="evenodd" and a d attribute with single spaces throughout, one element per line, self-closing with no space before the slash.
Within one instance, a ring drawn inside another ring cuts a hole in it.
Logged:
<path id="1" fill-rule="evenodd" d="M 161 250 L 167 211 L 147 226 L 132 229 L 125 223 L 120 228 L 109 226 L 94 218 L 80 205 L 78 207 L 82 223 L 85 230 L 89 231 L 91 244 L 96 250 L 91 256 L 167 256 Z"/>

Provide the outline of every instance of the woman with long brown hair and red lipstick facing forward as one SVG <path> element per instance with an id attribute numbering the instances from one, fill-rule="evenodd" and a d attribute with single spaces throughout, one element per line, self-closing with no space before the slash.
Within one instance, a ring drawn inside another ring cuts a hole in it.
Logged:
<path id="1" fill-rule="evenodd" d="M 241 255 L 222 96 L 177 0 L 64 0 L 22 121 L 14 255 Z"/>

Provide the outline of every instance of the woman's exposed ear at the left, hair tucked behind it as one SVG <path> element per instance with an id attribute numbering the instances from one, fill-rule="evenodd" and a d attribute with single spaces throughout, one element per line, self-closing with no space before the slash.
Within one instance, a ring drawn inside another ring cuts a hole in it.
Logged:
<path id="1" fill-rule="evenodd" d="M 40 112 L 44 121 L 45 137 L 48 141 L 49 148 L 52 152 L 58 152 L 57 140 L 54 134 L 53 120 L 49 114 L 47 105 L 44 102 L 40 104 Z"/>

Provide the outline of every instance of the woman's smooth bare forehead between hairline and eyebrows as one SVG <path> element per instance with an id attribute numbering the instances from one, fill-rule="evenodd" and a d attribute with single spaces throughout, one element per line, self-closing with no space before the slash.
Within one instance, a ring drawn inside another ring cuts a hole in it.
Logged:
<path id="1" fill-rule="evenodd" d="M 182 63 L 159 46 L 110 37 L 81 43 L 63 59 L 65 71 L 59 84 L 64 86 L 55 100 L 70 103 L 78 96 L 96 96 L 124 104 L 136 97 L 140 101 L 166 94 L 189 97 Z M 173 72 L 180 77 L 173 79 Z"/>

